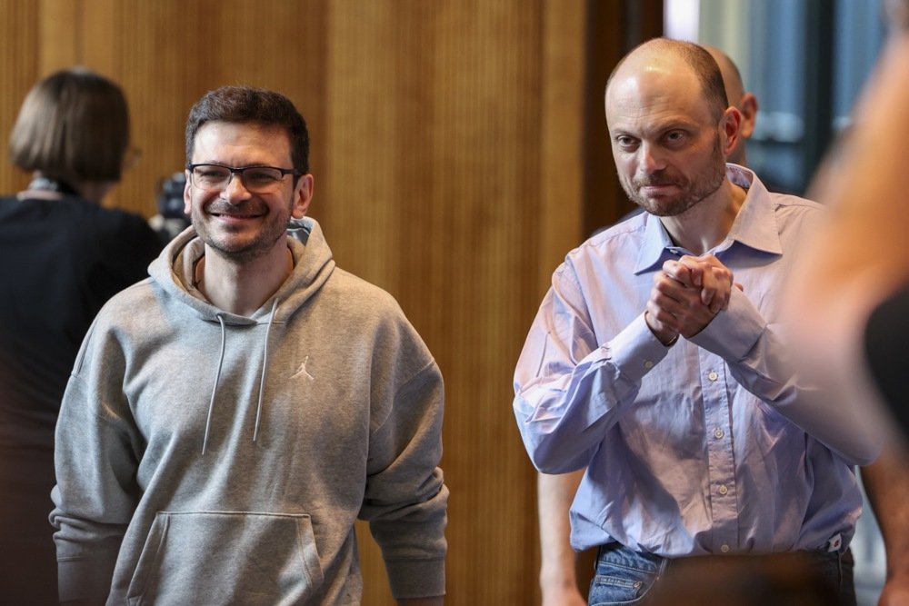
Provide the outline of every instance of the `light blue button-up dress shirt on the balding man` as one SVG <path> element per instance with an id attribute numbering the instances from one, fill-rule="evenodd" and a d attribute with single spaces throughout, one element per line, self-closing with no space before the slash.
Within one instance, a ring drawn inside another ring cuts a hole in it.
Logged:
<path id="1" fill-rule="evenodd" d="M 854 465 L 877 446 L 805 397 L 777 323 L 820 206 L 770 194 L 734 164 L 727 175 L 747 196 L 710 252 L 744 291 L 701 333 L 667 348 L 644 323 L 654 273 L 688 252 L 639 214 L 567 255 L 524 344 L 514 413 L 527 452 L 542 472 L 587 467 L 571 508 L 577 550 L 844 550 L 853 535 Z"/>

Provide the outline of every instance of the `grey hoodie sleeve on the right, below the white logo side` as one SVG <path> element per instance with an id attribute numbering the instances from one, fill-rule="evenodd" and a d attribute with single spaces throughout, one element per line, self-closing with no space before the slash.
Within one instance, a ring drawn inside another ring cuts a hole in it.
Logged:
<path id="1" fill-rule="evenodd" d="M 426 360 L 428 352 L 422 342 L 418 344 L 422 355 L 416 355 L 414 343 L 383 348 L 385 353 L 397 352 L 392 355 L 396 368 L 388 372 L 400 375 L 400 369 L 414 360 Z M 374 375 L 376 382 L 387 380 Z M 445 400 L 442 374 L 429 358 L 422 369 L 396 383 L 384 396 L 387 402 L 377 407 L 382 418 L 371 434 L 360 517 L 369 522 L 382 549 L 395 598 L 444 595 L 448 489 L 438 467 Z"/>

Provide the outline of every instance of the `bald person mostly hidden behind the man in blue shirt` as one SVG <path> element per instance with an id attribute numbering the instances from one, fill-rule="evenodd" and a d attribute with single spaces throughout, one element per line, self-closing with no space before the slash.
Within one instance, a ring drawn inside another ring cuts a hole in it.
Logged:
<path id="1" fill-rule="evenodd" d="M 702 45 L 716 61 L 723 75 L 726 97 L 742 114 L 740 137 L 728 162 L 747 165 L 746 141 L 754 134 L 758 100 L 746 92 L 738 66 L 729 55 L 715 46 Z M 541 543 L 540 588 L 544 606 L 580 606 L 586 599 L 579 591 L 576 571 L 577 556 L 571 546 L 569 509 L 584 470 L 550 475 L 538 474 L 537 501 Z M 888 546 L 888 566 L 901 574 L 889 574 L 880 606 L 887 606 L 887 596 L 909 590 L 909 513 L 903 503 L 909 501 L 909 464 L 899 449 L 887 448 L 884 455 L 862 468 L 862 479 Z"/>

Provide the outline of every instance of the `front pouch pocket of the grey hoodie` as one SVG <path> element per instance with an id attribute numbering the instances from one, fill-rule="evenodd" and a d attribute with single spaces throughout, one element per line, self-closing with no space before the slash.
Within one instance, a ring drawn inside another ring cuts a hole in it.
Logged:
<path id="1" fill-rule="evenodd" d="M 139 604 L 298 604 L 322 584 L 304 514 L 158 512 L 129 584 Z"/>

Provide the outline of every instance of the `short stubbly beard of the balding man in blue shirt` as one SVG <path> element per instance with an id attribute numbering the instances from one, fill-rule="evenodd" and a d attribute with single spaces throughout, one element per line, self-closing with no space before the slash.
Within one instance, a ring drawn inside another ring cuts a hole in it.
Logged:
<path id="1" fill-rule="evenodd" d="M 726 178 L 726 164 L 723 151 L 720 147 L 720 137 L 714 141 L 714 150 L 711 154 L 711 163 L 704 173 L 697 175 L 694 181 L 689 181 L 681 174 L 670 174 L 658 171 L 648 174 L 643 178 L 634 178 L 629 184 L 622 181 L 622 188 L 628 198 L 650 214 L 661 217 L 673 217 L 683 214 L 713 194 Z M 641 188 L 647 185 L 675 185 L 679 193 L 674 196 L 648 198 L 640 194 Z"/>

